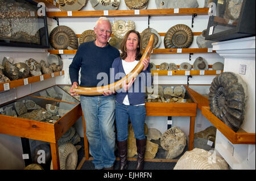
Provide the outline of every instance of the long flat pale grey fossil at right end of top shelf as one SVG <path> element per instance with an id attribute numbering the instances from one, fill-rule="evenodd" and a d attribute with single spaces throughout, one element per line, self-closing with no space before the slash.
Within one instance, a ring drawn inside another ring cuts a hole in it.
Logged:
<path id="1" fill-rule="evenodd" d="M 155 0 L 158 9 L 199 7 L 197 0 Z"/>

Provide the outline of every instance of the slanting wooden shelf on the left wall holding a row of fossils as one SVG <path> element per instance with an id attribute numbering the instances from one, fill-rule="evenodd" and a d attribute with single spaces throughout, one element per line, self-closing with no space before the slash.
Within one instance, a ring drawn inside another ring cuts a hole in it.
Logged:
<path id="1" fill-rule="evenodd" d="M 52 78 L 54 75 L 54 77 L 57 77 L 57 76 L 60 76 L 60 75 L 64 75 L 64 70 L 61 70 L 61 71 L 57 71 L 55 73 L 48 73 L 48 74 L 43 74 L 43 79 L 48 79 L 48 78 Z M 27 79 L 27 83 L 34 83 L 34 82 L 40 82 L 40 76 L 41 75 L 38 75 L 38 76 L 34 76 L 34 77 L 27 77 L 27 78 L 22 78 L 22 79 L 18 79 L 18 80 L 15 80 L 15 81 L 9 81 L 9 82 L 3 82 L 3 83 L 0 83 L 0 91 L 3 91 L 5 90 L 4 89 L 4 86 L 5 84 L 8 84 L 9 83 L 9 87 L 10 89 L 13 89 L 14 87 L 19 87 L 19 86 L 24 86 L 24 79 Z"/>

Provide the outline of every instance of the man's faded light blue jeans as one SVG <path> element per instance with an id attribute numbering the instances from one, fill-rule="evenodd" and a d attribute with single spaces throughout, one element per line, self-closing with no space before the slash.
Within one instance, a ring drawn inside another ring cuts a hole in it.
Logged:
<path id="1" fill-rule="evenodd" d="M 112 167 L 115 161 L 115 96 L 80 96 L 86 137 L 95 169 Z"/>

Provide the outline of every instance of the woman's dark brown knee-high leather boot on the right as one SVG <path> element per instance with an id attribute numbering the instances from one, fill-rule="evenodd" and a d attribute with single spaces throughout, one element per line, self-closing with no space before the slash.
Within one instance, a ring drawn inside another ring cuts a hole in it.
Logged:
<path id="1" fill-rule="evenodd" d="M 136 146 L 137 146 L 137 153 L 138 153 L 138 158 L 137 158 L 138 164 L 137 164 L 136 170 L 143 170 L 146 143 L 147 143 L 147 138 L 143 140 L 136 139 Z"/>

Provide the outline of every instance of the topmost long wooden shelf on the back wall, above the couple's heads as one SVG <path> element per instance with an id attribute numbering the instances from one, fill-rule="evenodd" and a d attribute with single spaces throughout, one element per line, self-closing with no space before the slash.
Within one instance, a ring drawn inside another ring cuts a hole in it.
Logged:
<path id="1" fill-rule="evenodd" d="M 152 9 L 152 10 L 109 10 L 108 15 L 106 11 L 72 11 L 72 16 L 68 16 L 68 11 L 49 11 L 47 16 L 49 18 L 92 18 L 100 16 L 188 16 L 188 15 L 208 15 L 209 8 L 185 8 L 179 9 L 179 13 L 175 13 L 174 9 Z M 136 13 L 135 13 L 136 12 Z"/>

